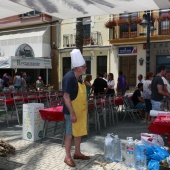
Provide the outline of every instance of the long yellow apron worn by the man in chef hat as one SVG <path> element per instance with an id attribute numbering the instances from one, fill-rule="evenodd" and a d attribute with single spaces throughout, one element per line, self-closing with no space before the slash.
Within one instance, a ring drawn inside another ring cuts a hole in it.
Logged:
<path id="1" fill-rule="evenodd" d="M 71 103 L 77 117 L 77 122 L 72 123 L 73 136 L 87 135 L 87 92 L 84 83 L 78 83 L 77 97 Z"/>

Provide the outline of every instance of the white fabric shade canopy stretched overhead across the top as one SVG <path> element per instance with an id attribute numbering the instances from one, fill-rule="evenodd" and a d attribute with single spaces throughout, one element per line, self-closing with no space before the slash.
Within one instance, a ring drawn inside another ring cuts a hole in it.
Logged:
<path id="1" fill-rule="evenodd" d="M 6 3 L 5 0 L 3 3 Z M 10 0 L 59 19 L 170 8 L 169 0 Z"/>

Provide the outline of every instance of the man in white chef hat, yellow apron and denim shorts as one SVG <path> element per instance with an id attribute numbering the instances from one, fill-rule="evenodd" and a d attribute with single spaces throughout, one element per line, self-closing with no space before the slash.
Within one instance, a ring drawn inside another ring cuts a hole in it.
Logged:
<path id="1" fill-rule="evenodd" d="M 73 69 L 64 75 L 62 81 L 63 114 L 66 121 L 64 162 L 70 167 L 75 167 L 76 164 L 71 156 L 73 137 L 75 144 L 73 158 L 90 159 L 89 156 L 82 154 L 80 149 L 81 137 L 87 135 L 87 92 L 85 84 L 78 80 L 82 74 L 85 74 L 87 67 L 80 50 L 74 49 L 70 55 Z"/>

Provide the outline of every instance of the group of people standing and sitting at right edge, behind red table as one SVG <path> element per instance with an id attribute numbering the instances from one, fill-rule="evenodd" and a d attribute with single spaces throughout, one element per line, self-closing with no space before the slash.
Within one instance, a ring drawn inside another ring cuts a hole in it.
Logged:
<path id="1" fill-rule="evenodd" d="M 136 108 L 141 108 L 145 112 L 145 122 L 152 122 L 154 117 L 150 117 L 150 110 L 164 111 L 166 100 L 170 99 L 170 72 L 161 65 L 157 68 L 157 74 L 146 73 L 145 80 L 140 74 L 138 76 L 137 89 L 132 95 L 132 100 Z M 167 106 L 166 106 L 167 107 Z"/>

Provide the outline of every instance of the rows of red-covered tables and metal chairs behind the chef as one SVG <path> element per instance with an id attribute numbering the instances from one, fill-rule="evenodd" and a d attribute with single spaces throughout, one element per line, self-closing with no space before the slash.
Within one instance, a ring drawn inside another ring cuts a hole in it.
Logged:
<path id="1" fill-rule="evenodd" d="M 5 96 L 4 93 L 1 93 Z M 4 97 L 6 107 L 13 107 L 18 124 L 22 124 L 21 116 L 23 112 L 22 105 L 24 103 L 31 102 L 42 102 L 40 97 L 42 96 L 46 102 L 46 108 L 41 109 L 40 115 L 44 120 L 43 135 L 42 141 L 47 137 L 48 132 L 53 130 L 56 134 L 56 130 L 61 125 L 61 122 L 65 122 L 64 116 L 62 114 L 63 108 L 63 96 L 62 91 L 53 91 L 53 92 L 20 92 L 20 93 L 8 93 L 7 97 Z M 20 106 L 19 106 L 20 104 Z M 96 132 L 101 133 L 102 128 L 107 126 L 116 125 L 118 123 L 118 107 L 123 105 L 122 97 L 115 96 L 105 96 L 101 94 L 100 96 L 91 96 L 88 98 L 88 134 L 90 133 L 91 123 L 94 124 Z M 8 117 L 8 116 L 7 116 Z M 9 119 L 8 119 L 9 120 Z M 52 129 L 50 122 L 55 123 Z M 10 124 L 10 122 L 9 122 Z M 49 126 L 48 126 L 49 124 Z M 63 126 L 63 124 L 62 124 Z M 65 128 L 62 128 L 65 129 Z M 65 131 L 62 131 L 62 145 L 63 145 L 63 136 Z"/>

